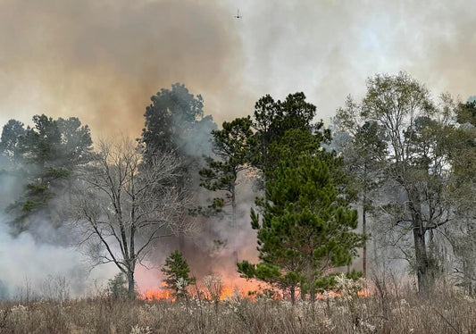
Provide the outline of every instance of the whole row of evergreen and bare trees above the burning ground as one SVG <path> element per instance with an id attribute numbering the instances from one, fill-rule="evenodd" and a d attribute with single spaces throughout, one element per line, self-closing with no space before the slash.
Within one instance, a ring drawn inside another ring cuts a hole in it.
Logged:
<path id="1" fill-rule="evenodd" d="M 388 230 L 420 291 L 447 268 L 452 259 L 442 248 L 449 245 L 453 271 L 473 292 L 475 102 L 441 96 L 435 103 L 406 73 L 376 75 L 362 101 L 349 97 L 338 110 L 335 151 L 304 93 L 263 96 L 252 115 L 221 129 L 184 85 L 151 101 L 135 144 L 103 143 L 96 152 L 77 118 L 37 115 L 26 128 L 8 121 L 0 178 L 15 180 L 6 210 L 17 232 L 39 214 L 56 226 L 74 217 L 91 258 L 115 263 L 132 297 L 136 265 L 154 243 L 195 230 L 196 213 L 205 213 L 196 209 L 201 188 L 213 192 L 210 208 L 230 211 L 236 227 L 240 176 L 251 173 L 259 261 L 238 263 L 244 277 L 280 288 L 293 302 L 298 293 L 313 299 L 360 247 L 365 275 L 369 236 Z"/>

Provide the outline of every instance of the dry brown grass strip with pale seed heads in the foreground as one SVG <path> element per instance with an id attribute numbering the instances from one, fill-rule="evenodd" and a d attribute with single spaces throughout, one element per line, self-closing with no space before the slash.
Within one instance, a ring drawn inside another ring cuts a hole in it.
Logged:
<path id="1" fill-rule="evenodd" d="M 395 295 L 395 294 L 394 294 Z M 215 304 L 117 300 L 105 296 L 0 304 L 0 333 L 476 333 L 476 299 L 449 289 L 428 296 L 255 302 L 233 297 Z"/>

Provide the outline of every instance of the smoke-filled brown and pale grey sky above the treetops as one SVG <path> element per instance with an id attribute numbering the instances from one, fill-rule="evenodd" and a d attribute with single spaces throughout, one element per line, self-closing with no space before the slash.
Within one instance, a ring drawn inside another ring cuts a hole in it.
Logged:
<path id="1" fill-rule="evenodd" d="M 376 73 L 465 100 L 474 13 L 461 0 L 0 0 L 0 126 L 46 113 L 138 137 L 150 96 L 176 82 L 218 123 L 296 91 L 329 121 Z"/>

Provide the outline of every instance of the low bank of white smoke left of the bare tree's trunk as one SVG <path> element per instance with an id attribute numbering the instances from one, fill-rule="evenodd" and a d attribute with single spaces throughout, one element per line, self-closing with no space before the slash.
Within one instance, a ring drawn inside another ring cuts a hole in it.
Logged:
<path id="1" fill-rule="evenodd" d="M 0 216 L 0 299 L 19 298 L 26 288 L 31 290 L 32 296 L 51 297 L 45 296 L 45 282 L 52 278 L 64 280 L 70 296 L 85 296 L 95 282 L 104 286 L 117 271 L 113 265 L 91 270 L 87 257 L 75 246 L 37 241 L 30 231 L 13 237 L 6 221 L 7 217 Z M 46 222 L 41 229 L 45 234 L 54 234 Z"/>

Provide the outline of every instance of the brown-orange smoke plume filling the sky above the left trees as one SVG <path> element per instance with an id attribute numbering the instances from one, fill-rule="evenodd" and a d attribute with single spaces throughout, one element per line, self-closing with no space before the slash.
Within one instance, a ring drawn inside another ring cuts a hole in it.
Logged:
<path id="1" fill-rule="evenodd" d="M 171 83 L 232 100 L 242 57 L 228 16 L 191 0 L 2 1 L 2 121 L 74 115 L 93 136 L 138 137 L 149 97 Z"/>

